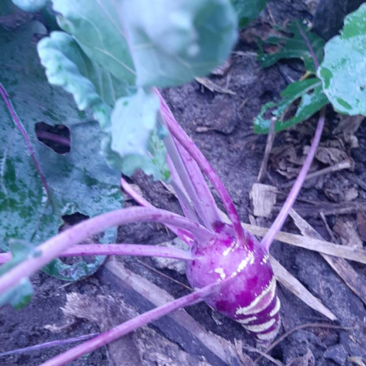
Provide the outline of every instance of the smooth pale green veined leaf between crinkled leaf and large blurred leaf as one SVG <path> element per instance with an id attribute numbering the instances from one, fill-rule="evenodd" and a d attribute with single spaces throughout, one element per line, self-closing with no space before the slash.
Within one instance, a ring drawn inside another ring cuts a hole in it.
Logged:
<path id="1" fill-rule="evenodd" d="M 135 68 L 114 0 L 52 0 L 60 27 L 85 54 L 125 84 L 135 83 Z"/>

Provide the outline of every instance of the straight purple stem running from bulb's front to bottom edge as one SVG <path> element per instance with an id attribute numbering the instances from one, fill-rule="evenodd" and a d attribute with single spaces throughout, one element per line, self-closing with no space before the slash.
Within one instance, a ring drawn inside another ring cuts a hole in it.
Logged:
<path id="1" fill-rule="evenodd" d="M 127 322 L 124 322 L 116 327 L 109 329 L 99 336 L 82 343 L 81 345 L 75 346 L 66 352 L 44 362 L 40 366 L 61 366 L 66 365 L 69 362 L 76 360 L 85 353 L 89 353 L 102 347 L 110 342 L 115 341 L 118 338 L 132 332 L 133 330 L 146 325 L 162 316 L 177 310 L 183 306 L 193 305 L 203 300 L 203 298 L 213 291 L 218 290 L 222 285 L 227 284 L 228 281 L 232 280 L 235 276 L 230 276 L 224 281 L 216 282 L 211 285 L 207 285 L 189 295 L 183 296 L 177 300 L 171 301 L 168 304 L 158 306 L 155 309 L 149 310 Z"/>

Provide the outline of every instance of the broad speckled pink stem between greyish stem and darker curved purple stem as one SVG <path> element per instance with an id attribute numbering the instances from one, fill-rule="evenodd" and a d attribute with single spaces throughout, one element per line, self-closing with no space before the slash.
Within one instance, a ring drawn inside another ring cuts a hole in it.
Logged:
<path id="1" fill-rule="evenodd" d="M 219 213 L 219 209 L 216 205 L 210 189 L 207 186 L 206 181 L 204 180 L 201 169 L 178 141 L 176 141 L 176 146 L 179 153 L 181 154 L 189 178 L 198 196 L 200 197 L 203 208 L 206 212 L 208 221 L 210 222 L 211 226 L 214 226 L 215 223 L 222 222 L 222 217 Z"/>

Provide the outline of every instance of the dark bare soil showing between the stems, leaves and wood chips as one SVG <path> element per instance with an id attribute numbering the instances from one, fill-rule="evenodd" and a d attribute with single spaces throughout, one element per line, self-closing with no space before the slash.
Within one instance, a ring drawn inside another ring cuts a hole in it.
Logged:
<path id="1" fill-rule="evenodd" d="M 269 2 L 271 16 L 277 24 L 282 25 L 288 19 L 311 19 L 311 15 L 303 1 L 272 0 Z M 269 19 L 264 14 L 264 19 Z M 263 28 L 264 23 L 259 20 L 254 23 L 252 29 Z M 293 79 L 299 79 L 303 74 L 301 64 L 296 61 L 281 62 L 268 69 L 261 69 L 253 51 L 256 51 L 255 43 L 244 32 L 238 43 L 237 50 L 241 54 L 234 54 L 231 58 L 231 67 L 224 77 L 212 77 L 212 81 L 225 86 L 230 76 L 228 87 L 236 95 L 212 93 L 197 82 L 172 88 L 164 92 L 168 104 L 171 106 L 177 120 L 197 143 L 203 154 L 212 163 L 224 181 L 227 190 L 236 204 L 242 221 L 249 222 L 250 201 L 249 191 L 253 183 L 257 181 L 260 164 L 263 159 L 265 136 L 257 136 L 252 133 L 252 120 L 258 114 L 261 105 L 275 97 Z M 240 106 L 244 103 L 244 106 Z M 327 121 L 331 126 L 335 120 L 335 113 L 328 107 Z M 309 129 L 307 141 L 309 143 L 311 133 L 314 130 L 316 120 L 305 122 Z M 202 128 L 204 127 L 204 128 Z M 205 131 L 205 132 L 197 132 Z M 297 130 L 291 132 L 296 136 Z M 275 146 L 285 143 L 284 133 L 276 136 Z M 326 128 L 323 140 L 329 137 L 330 129 Z M 366 198 L 366 126 L 361 125 L 356 133 L 360 146 L 353 149 L 352 156 L 355 160 L 353 171 L 342 171 L 326 176 L 326 184 L 346 186 L 349 182 L 361 182 L 357 185 L 359 191 L 355 202 Z M 268 172 L 264 183 L 278 186 L 283 192 L 287 192 L 282 185 L 287 179 L 280 176 L 269 163 Z M 145 198 L 158 207 L 179 212 L 176 199 L 162 186 L 161 183 L 152 183 L 142 174 L 136 174 L 134 183 L 142 188 Z M 322 189 L 315 187 L 315 182 L 306 184 L 300 198 L 314 203 L 331 202 Z M 219 201 L 218 201 L 219 202 Z M 298 201 L 301 208 L 301 202 Z M 129 205 L 131 203 L 126 203 Z M 354 220 L 354 213 L 348 214 Z M 263 221 L 263 225 L 269 226 L 271 220 Z M 336 217 L 327 217 L 332 226 Z M 323 222 L 318 215 L 310 215 L 307 221 L 325 238 L 331 240 Z M 296 228 L 290 220 L 285 227 L 286 231 L 296 232 Z M 157 244 L 173 236 L 157 224 L 134 224 L 120 229 L 119 240 L 121 242 Z M 298 330 L 276 346 L 270 354 L 285 365 L 304 365 L 291 363 L 291 359 L 305 355 L 308 350 L 315 357 L 315 363 L 308 365 L 333 366 L 352 365 L 347 362 L 350 356 L 360 356 L 366 360 L 366 309 L 362 301 L 353 294 L 342 279 L 325 263 L 322 257 L 305 249 L 296 248 L 288 244 L 276 242 L 271 248 L 271 253 L 286 269 L 298 278 L 306 288 L 318 297 L 338 318 L 334 324 L 351 326 L 352 331 L 326 328 L 305 328 Z M 140 261 L 154 265 L 150 259 Z M 150 271 L 141 262 L 133 258 L 126 258 L 125 264 L 136 273 L 143 274 L 148 280 L 163 287 L 174 296 L 182 296 L 187 290 L 171 280 Z M 352 264 L 366 281 L 365 265 Z M 187 284 L 183 275 L 170 270 L 163 272 L 180 282 Z M 82 294 L 96 295 L 109 294 L 119 298 L 121 294 L 101 285 L 101 274 L 97 273 L 87 280 L 64 286 L 59 280 L 48 277 L 43 273 L 33 276 L 35 294 L 30 305 L 17 311 L 5 307 L 0 312 L 0 351 L 31 346 L 51 340 L 73 337 L 81 334 L 99 331 L 97 325 L 86 321 L 78 321 L 74 325 L 65 327 L 59 332 L 46 329 L 45 325 L 65 325 L 65 319 L 60 307 L 64 305 L 66 294 L 72 291 Z M 279 285 L 282 303 L 282 332 L 288 331 L 297 325 L 308 322 L 330 323 L 320 313 L 312 310 L 301 300 L 295 297 L 283 286 Z M 139 309 L 137 309 L 139 310 Z M 254 346 L 241 325 L 225 319 L 214 313 L 207 305 L 201 303 L 186 309 L 205 329 L 219 334 L 230 340 L 241 339 L 243 343 Z M 20 355 L 0 358 L 0 365 L 38 365 L 50 357 L 60 353 L 69 346 L 56 347 L 41 351 L 32 351 Z M 250 354 L 255 359 L 256 354 Z M 262 360 L 262 365 L 272 365 L 269 361 Z M 72 365 L 110 365 L 106 349 L 88 354 Z M 121 363 L 123 365 L 123 362 Z M 307 364 L 306 364 L 307 365 Z"/>

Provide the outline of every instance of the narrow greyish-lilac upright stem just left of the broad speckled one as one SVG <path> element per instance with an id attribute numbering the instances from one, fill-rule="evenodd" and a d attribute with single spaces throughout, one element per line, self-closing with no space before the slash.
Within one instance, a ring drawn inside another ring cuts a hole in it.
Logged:
<path id="1" fill-rule="evenodd" d="M 170 133 L 164 139 L 164 144 L 165 144 L 166 150 L 169 154 L 169 157 L 175 166 L 178 176 L 181 179 L 183 187 L 184 187 L 185 191 L 187 192 L 191 202 L 193 203 L 193 206 L 198 214 L 198 217 L 201 219 L 201 221 L 205 227 L 211 228 L 211 224 L 208 221 L 208 218 L 206 216 L 206 212 L 203 208 L 201 200 L 198 197 L 198 194 L 195 191 L 191 180 L 189 179 L 189 175 L 188 175 L 188 173 L 185 169 L 185 166 L 183 164 L 183 161 L 182 161 L 182 156 L 179 154 L 177 146 L 175 145 Z"/>

